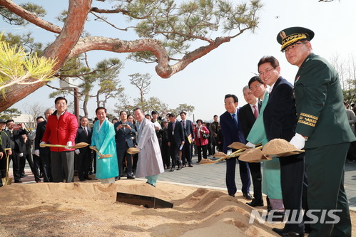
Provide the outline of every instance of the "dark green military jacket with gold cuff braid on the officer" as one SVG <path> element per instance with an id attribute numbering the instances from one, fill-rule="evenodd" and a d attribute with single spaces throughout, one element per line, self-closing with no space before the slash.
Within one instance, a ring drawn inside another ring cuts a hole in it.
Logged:
<path id="1" fill-rule="evenodd" d="M 355 141 L 335 68 L 311 53 L 294 83 L 298 122 L 295 132 L 308 137 L 305 148 Z"/>

